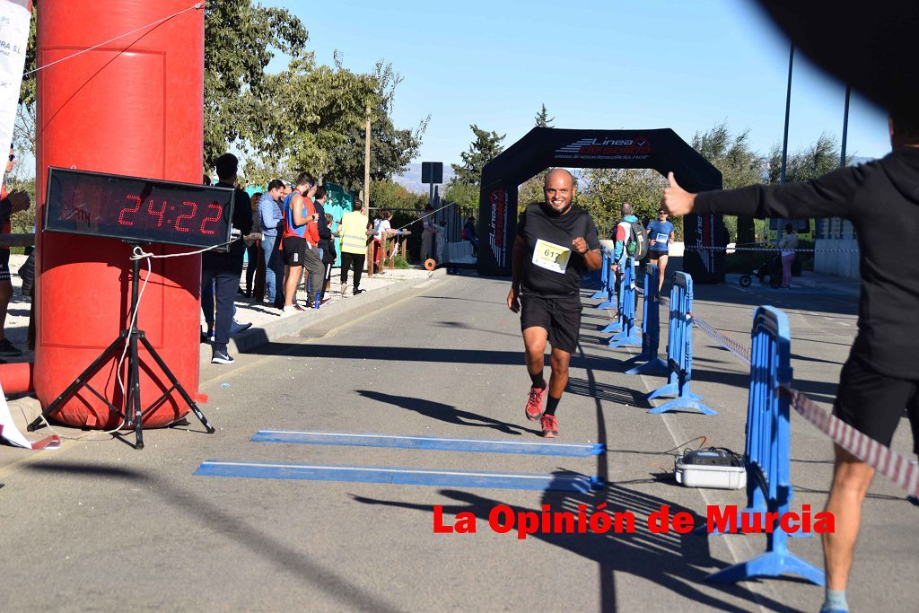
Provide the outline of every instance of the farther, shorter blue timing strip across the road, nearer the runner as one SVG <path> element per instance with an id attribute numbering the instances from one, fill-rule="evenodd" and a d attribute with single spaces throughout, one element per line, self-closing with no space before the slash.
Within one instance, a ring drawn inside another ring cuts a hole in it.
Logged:
<path id="1" fill-rule="evenodd" d="M 598 456 L 606 445 L 573 443 L 534 443 L 516 440 L 480 440 L 475 438 L 403 437 L 383 434 L 346 432 L 300 432 L 297 430 L 259 430 L 252 437 L 262 443 L 303 443 L 308 445 L 348 445 L 439 451 L 473 451 L 479 453 L 521 453 L 532 456 Z"/>

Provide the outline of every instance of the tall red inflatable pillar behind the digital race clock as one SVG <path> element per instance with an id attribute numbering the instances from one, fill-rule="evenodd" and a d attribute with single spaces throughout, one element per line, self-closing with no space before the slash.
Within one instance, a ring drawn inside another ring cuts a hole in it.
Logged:
<path id="1" fill-rule="evenodd" d="M 204 11 L 187 10 L 70 59 L 104 40 L 192 5 L 190 0 L 67 0 L 38 11 L 38 202 L 48 166 L 200 183 Z M 203 5 L 203 3 L 202 3 Z M 42 207 L 39 206 L 39 228 Z M 177 253 L 182 248 L 154 247 Z M 48 406 L 128 327 L 130 249 L 112 239 L 39 233 L 33 383 Z M 146 266 L 142 266 L 145 278 Z M 199 383 L 200 256 L 154 259 L 139 327 L 193 395 Z M 141 349 L 142 406 L 169 383 Z M 113 360 L 91 385 L 124 398 Z M 122 373 L 124 368 L 122 367 Z M 123 376 L 123 375 L 122 375 Z M 175 392 L 144 419 L 164 426 L 187 414 Z M 73 426 L 114 427 L 117 414 L 82 391 L 53 415 Z"/>

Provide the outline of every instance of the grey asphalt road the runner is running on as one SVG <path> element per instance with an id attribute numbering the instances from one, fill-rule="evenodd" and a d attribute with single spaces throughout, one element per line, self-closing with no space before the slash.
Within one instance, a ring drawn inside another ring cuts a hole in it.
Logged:
<path id="1" fill-rule="evenodd" d="M 717 416 L 646 413 L 658 377 L 621 374 L 627 350 L 597 329 L 607 313 L 585 301 L 581 349 L 559 409 L 560 443 L 607 445 L 588 458 L 253 442 L 260 429 L 541 441 L 523 415 L 529 380 L 507 283 L 447 278 L 366 312 L 348 313 L 202 367 L 202 408 L 218 431 L 145 433 L 133 450 L 108 437 L 0 469 L 0 610 L 156 611 L 815 611 L 823 589 L 796 580 L 710 585 L 707 573 L 764 551 L 765 538 L 652 534 L 661 505 L 705 515 L 743 505 L 743 492 L 673 482 L 665 452 L 693 437 L 743 450 L 746 374 L 697 333 L 693 391 Z M 586 295 L 586 292 L 585 292 Z M 855 332 L 855 300 L 832 289 L 785 293 L 698 286 L 696 312 L 749 342 L 752 308 L 789 312 L 796 385 L 832 402 Z M 665 331 L 664 331 L 665 332 Z M 663 347 L 662 347 L 663 350 Z M 548 372 L 547 372 L 548 374 Z M 905 426 L 905 424 L 904 424 Z M 907 427 L 894 447 L 908 451 Z M 823 505 L 831 447 L 792 417 L 795 505 Z M 196 476 L 204 460 L 448 471 L 596 475 L 588 494 L 391 483 Z M 489 512 L 631 511 L 633 534 L 496 534 Z M 468 511 L 475 534 L 436 534 Z M 878 479 L 865 507 L 850 605 L 913 610 L 919 587 L 916 509 Z M 789 549 L 822 564 L 819 539 Z"/>

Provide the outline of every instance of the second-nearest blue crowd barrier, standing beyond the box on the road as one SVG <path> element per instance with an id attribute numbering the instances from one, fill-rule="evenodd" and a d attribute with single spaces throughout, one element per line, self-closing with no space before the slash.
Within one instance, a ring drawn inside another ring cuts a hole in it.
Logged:
<path id="1" fill-rule="evenodd" d="M 675 409 L 693 409 L 705 415 L 718 414 L 701 403 L 701 396 L 689 391 L 689 382 L 692 380 L 692 277 L 685 272 L 674 273 L 670 288 L 667 369 L 667 383 L 648 394 L 648 400 L 660 396 L 675 395 L 676 398 L 654 407 L 649 413 L 662 414 Z"/>

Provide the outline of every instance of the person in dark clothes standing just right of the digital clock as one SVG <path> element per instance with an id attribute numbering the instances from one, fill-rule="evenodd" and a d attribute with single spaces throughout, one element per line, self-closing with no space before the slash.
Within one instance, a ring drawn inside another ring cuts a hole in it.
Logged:
<path id="1" fill-rule="evenodd" d="M 233 153 L 224 153 L 214 162 L 217 170 L 217 185 L 233 187 L 236 191 L 233 205 L 233 228 L 243 236 L 252 232 L 252 205 L 249 195 L 235 187 L 239 160 Z M 230 250 L 221 253 L 206 251 L 201 255 L 201 310 L 208 324 L 208 335 L 214 333 L 211 364 L 233 364 L 233 357 L 227 351 L 230 342 L 230 326 L 233 324 L 233 299 L 239 289 L 243 273 L 245 244 L 242 238 L 230 244 Z M 213 285 L 211 285 L 213 284 Z M 217 301 L 216 315 L 214 301 Z"/>

